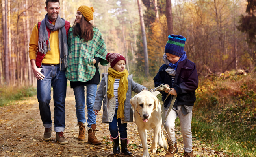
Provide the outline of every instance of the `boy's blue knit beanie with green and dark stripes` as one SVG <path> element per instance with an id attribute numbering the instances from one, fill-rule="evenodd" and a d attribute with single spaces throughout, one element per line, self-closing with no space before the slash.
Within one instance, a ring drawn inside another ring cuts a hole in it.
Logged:
<path id="1" fill-rule="evenodd" d="M 186 38 L 182 35 L 169 35 L 165 45 L 165 53 L 182 57 Z"/>

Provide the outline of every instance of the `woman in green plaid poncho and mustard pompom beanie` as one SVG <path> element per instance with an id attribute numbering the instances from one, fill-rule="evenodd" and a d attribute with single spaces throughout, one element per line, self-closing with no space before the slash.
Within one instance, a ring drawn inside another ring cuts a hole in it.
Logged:
<path id="1" fill-rule="evenodd" d="M 88 143 L 101 144 L 96 138 L 96 115 L 93 111 L 97 84 L 100 83 L 98 63 L 107 64 L 107 49 L 102 34 L 89 21 L 93 20 L 93 7 L 82 5 L 78 8 L 73 27 L 68 36 L 68 65 L 66 77 L 74 90 L 76 117 L 79 126 L 78 140 L 85 139 L 85 86 L 88 110 Z"/>

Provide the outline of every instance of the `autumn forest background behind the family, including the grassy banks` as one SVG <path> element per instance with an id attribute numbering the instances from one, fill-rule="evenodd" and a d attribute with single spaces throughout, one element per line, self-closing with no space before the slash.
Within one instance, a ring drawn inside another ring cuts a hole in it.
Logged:
<path id="1" fill-rule="evenodd" d="M 152 89 L 171 34 L 167 1 L 61 0 L 59 16 L 73 25 L 79 6 L 93 6 L 92 23 L 108 52 L 124 55 L 134 80 Z M 186 37 L 184 51 L 195 62 L 200 82 L 193 138 L 210 140 L 212 148 L 234 156 L 253 156 L 256 148 L 255 6 L 256 0 L 171 0 L 171 32 Z M 28 44 L 33 26 L 46 12 L 45 0 L 1 0 L 0 9 L 2 106 L 13 103 L 4 97 L 13 97 L 18 89 L 14 99 L 35 94 Z M 108 67 L 100 66 L 100 73 Z"/>

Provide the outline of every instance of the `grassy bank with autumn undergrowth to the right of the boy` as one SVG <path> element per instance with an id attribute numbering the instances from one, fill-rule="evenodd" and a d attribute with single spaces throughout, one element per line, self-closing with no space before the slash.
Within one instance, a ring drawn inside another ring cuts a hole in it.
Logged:
<path id="1" fill-rule="evenodd" d="M 200 79 L 192 133 L 234 157 L 256 155 L 256 74 L 226 72 Z"/>

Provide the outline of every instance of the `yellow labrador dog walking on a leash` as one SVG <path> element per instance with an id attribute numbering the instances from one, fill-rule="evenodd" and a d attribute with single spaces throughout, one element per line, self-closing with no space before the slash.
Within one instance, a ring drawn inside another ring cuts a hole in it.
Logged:
<path id="1" fill-rule="evenodd" d="M 159 92 L 158 92 L 159 93 Z M 147 145 L 147 130 L 154 129 L 154 137 L 151 146 L 152 153 L 156 153 L 157 142 L 163 147 L 161 138 L 161 105 L 156 96 L 150 91 L 141 91 L 135 95 L 130 103 L 134 107 L 134 119 L 138 126 L 139 137 L 143 147 L 143 157 L 149 157 Z"/>

